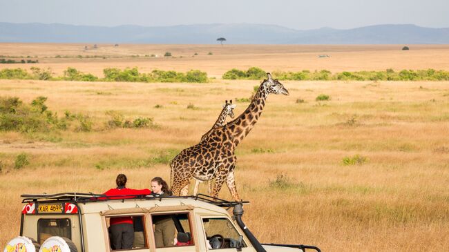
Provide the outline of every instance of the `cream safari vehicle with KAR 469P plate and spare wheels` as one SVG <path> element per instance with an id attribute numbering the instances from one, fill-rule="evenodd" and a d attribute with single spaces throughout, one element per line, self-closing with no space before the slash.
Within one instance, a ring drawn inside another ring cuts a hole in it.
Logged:
<path id="1" fill-rule="evenodd" d="M 59 193 L 21 197 L 25 205 L 20 234 L 6 245 L 4 252 L 321 252 L 316 246 L 260 244 L 242 222 L 242 205 L 249 202 L 229 202 L 201 194 L 154 197 Z M 230 208 L 233 217 L 227 212 Z M 112 248 L 108 227 L 113 217 L 132 217 L 132 249 Z M 157 244 L 154 222 L 161 217 L 173 220 L 172 246 Z"/>

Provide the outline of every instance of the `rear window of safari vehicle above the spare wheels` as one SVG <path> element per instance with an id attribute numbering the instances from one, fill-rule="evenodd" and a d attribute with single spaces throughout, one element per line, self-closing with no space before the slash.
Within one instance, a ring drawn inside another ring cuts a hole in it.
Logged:
<path id="1" fill-rule="evenodd" d="M 52 236 L 61 236 L 72 240 L 69 219 L 39 219 L 37 221 L 37 241 L 42 244 Z"/>

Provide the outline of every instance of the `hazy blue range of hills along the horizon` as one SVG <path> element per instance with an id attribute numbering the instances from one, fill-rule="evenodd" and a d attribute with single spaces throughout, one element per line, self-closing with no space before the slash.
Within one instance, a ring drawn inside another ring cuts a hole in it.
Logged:
<path id="1" fill-rule="evenodd" d="M 449 28 L 385 24 L 348 30 L 294 30 L 282 26 L 249 23 L 103 27 L 0 22 L 0 42 L 218 43 L 218 37 L 225 37 L 225 43 L 234 44 L 449 43 Z"/>

